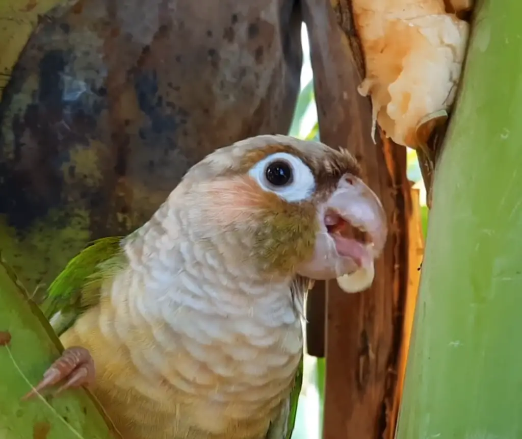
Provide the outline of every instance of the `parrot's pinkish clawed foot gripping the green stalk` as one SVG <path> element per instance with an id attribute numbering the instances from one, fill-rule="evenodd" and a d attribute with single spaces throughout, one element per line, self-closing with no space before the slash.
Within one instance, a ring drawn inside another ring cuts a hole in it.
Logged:
<path id="1" fill-rule="evenodd" d="M 45 371 L 42 381 L 33 387 L 27 395 L 23 396 L 22 400 L 27 400 L 61 381 L 65 381 L 65 383 L 58 387 L 55 393 L 60 393 L 69 388 L 85 386 L 93 383 L 95 376 L 94 360 L 90 352 L 79 346 L 68 348 Z"/>

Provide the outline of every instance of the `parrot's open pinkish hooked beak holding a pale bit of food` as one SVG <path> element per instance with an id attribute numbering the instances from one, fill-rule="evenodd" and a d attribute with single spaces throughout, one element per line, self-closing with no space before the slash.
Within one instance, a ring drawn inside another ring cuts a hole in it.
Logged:
<path id="1" fill-rule="evenodd" d="M 386 243 L 386 214 L 375 193 L 357 177 L 345 175 L 318 209 L 315 252 L 300 274 L 334 279 L 346 292 L 369 288 L 374 260 Z"/>

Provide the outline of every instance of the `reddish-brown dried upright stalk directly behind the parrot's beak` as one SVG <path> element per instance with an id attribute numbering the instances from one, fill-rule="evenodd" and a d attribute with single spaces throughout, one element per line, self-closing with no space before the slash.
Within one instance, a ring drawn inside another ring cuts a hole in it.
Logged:
<path id="1" fill-rule="evenodd" d="M 364 74 L 349 0 L 303 0 L 310 32 L 321 139 L 350 149 L 381 197 L 389 235 L 370 290 L 326 290 L 325 439 L 378 439 L 395 428 L 402 316 L 408 287 L 408 219 L 412 212 L 406 149 L 371 138 L 370 100 L 357 92 Z M 312 300 L 321 300 L 319 294 Z M 309 304 L 309 309 L 321 305 Z M 315 318 L 314 321 L 318 319 Z M 315 328 L 310 328 L 315 330 Z M 314 347 L 316 352 L 321 351 Z"/>

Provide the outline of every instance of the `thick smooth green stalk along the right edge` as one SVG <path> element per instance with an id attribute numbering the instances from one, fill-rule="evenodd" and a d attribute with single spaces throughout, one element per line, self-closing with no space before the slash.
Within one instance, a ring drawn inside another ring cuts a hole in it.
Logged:
<path id="1" fill-rule="evenodd" d="M 522 2 L 477 2 L 433 208 L 397 439 L 522 437 Z"/>

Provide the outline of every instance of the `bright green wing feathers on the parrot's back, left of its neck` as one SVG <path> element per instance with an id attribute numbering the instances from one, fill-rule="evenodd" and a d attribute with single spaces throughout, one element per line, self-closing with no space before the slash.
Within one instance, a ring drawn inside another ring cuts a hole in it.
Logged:
<path id="1" fill-rule="evenodd" d="M 49 320 L 55 316 L 52 324 L 58 335 L 73 325 L 82 312 L 99 303 L 103 280 L 124 267 L 122 239 L 123 236 L 111 236 L 93 241 L 51 283 L 40 307 Z"/>

